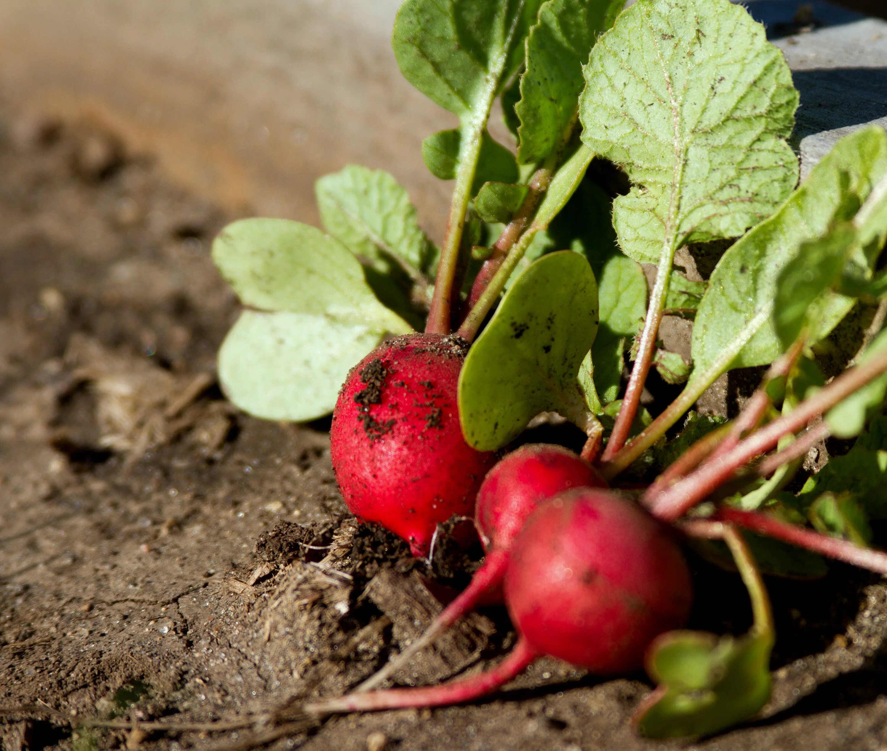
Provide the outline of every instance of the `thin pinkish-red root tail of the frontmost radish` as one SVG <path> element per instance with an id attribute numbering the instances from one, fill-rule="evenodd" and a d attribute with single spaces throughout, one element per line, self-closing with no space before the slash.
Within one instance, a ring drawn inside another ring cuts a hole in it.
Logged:
<path id="1" fill-rule="evenodd" d="M 444 705 L 464 704 L 506 685 L 538 656 L 538 653 L 527 644 L 526 639 L 520 638 L 505 660 L 484 673 L 444 685 L 350 693 L 339 699 L 306 704 L 304 709 L 311 714 L 327 715 L 340 712 L 373 712 L 380 709 L 443 707 Z"/>

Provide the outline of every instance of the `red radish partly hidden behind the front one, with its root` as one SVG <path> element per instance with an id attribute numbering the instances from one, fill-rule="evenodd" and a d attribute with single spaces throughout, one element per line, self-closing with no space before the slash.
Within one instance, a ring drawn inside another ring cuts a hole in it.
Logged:
<path id="1" fill-rule="evenodd" d="M 358 685 L 356 691 L 365 692 L 380 685 L 482 600 L 500 602 L 508 555 L 527 517 L 546 499 L 585 486 L 602 488 L 606 483 L 592 465 L 561 446 L 529 443 L 501 459 L 477 492 L 475 527 L 487 552 L 483 566 L 420 638 Z"/>

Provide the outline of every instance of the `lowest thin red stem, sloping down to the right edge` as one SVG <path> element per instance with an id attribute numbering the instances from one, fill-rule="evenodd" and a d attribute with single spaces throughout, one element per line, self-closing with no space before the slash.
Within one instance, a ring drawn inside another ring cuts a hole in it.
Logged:
<path id="1" fill-rule="evenodd" d="M 859 545 L 853 544 L 849 540 L 821 535 L 812 529 L 798 527 L 761 512 L 739 511 L 725 506 L 718 510 L 717 518 L 761 535 L 775 537 L 784 543 L 818 552 L 828 558 L 843 560 L 844 563 L 852 563 L 854 566 L 887 575 L 887 553 L 885 552 L 860 548 Z"/>

